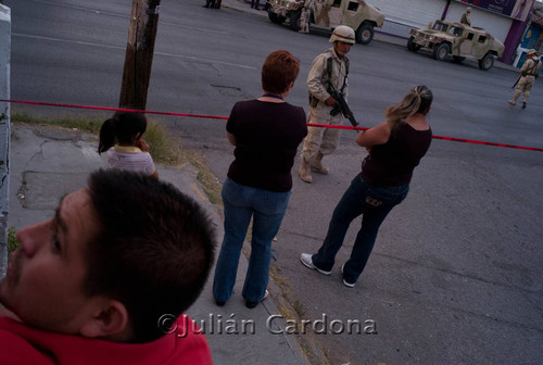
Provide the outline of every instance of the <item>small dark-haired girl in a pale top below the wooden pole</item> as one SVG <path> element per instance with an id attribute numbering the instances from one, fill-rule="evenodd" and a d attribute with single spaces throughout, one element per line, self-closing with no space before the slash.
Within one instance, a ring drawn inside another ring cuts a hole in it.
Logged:
<path id="1" fill-rule="evenodd" d="M 100 128 L 98 153 L 108 151 L 111 168 L 127 169 L 159 178 L 149 153 L 149 144 L 141 139 L 147 118 L 141 113 L 116 112 Z"/>

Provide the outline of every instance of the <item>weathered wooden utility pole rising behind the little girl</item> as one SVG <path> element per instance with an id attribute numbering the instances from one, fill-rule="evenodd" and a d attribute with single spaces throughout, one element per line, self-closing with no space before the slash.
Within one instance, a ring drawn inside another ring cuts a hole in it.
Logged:
<path id="1" fill-rule="evenodd" d="M 161 0 L 132 0 L 119 108 L 144 110 Z"/>

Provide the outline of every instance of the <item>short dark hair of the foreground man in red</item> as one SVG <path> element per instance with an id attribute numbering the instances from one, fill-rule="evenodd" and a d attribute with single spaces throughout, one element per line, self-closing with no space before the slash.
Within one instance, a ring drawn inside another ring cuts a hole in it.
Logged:
<path id="1" fill-rule="evenodd" d="M 135 338 L 163 336 L 159 318 L 179 316 L 200 295 L 214 259 L 214 228 L 202 207 L 173 185 L 100 169 L 89 178 L 100 227 L 88 243 L 84 292 L 122 302 Z"/>

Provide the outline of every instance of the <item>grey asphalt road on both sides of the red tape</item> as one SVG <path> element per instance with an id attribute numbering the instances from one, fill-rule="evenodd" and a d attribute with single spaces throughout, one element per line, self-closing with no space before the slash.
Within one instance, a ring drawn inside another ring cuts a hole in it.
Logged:
<path id="1" fill-rule="evenodd" d="M 116 106 L 129 1 L 5 1 L 12 8 L 12 98 Z M 289 101 L 306 105 L 304 78 L 326 34 L 300 35 L 266 17 L 163 0 L 148 110 L 228 115 L 235 101 L 260 95 L 260 67 L 275 49 L 301 60 Z M 428 53 L 374 41 L 350 52 L 350 104 L 362 126 L 415 85 L 434 93 L 435 135 L 543 148 L 543 87 L 526 110 L 506 100 L 517 74 L 472 62 L 437 62 Z M 81 113 L 58 109 L 31 113 Z M 201 148 L 219 180 L 231 162 L 224 122 L 164 117 L 184 146 Z M 434 140 L 412 190 L 381 227 L 354 289 L 339 267 L 331 277 L 303 267 L 318 249 L 331 211 L 365 152 L 344 131 L 325 162 L 329 176 L 294 179 L 275 270 L 303 317 L 375 320 L 377 335 L 316 336 L 333 364 L 541 364 L 543 343 L 543 154 Z M 298 168 L 296 162 L 294 168 Z M 295 171 L 294 171 L 295 175 Z M 336 327 L 337 329 L 337 327 Z M 262 361 L 265 364 L 265 360 Z"/>

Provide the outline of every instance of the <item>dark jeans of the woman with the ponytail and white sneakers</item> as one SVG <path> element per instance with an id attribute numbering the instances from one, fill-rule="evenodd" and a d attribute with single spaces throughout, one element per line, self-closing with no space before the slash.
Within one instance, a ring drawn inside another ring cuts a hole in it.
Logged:
<path id="1" fill-rule="evenodd" d="M 363 214 L 362 227 L 356 235 L 351 257 L 343 266 L 345 281 L 356 282 L 374 249 L 379 226 L 390 211 L 407 197 L 408 191 L 408 185 L 374 187 L 357 175 L 336 206 L 325 241 L 318 252 L 312 256 L 313 264 L 323 270 L 331 270 L 349 225 Z"/>

